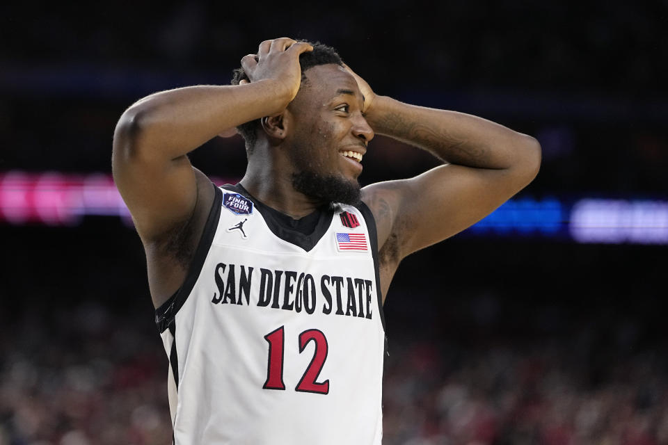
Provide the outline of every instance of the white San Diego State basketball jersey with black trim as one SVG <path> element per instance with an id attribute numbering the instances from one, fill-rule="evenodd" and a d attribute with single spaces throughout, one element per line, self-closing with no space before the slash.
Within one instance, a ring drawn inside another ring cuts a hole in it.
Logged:
<path id="1" fill-rule="evenodd" d="M 156 311 L 177 445 L 381 444 L 385 328 L 365 204 L 312 234 L 216 188 L 182 288 Z"/>

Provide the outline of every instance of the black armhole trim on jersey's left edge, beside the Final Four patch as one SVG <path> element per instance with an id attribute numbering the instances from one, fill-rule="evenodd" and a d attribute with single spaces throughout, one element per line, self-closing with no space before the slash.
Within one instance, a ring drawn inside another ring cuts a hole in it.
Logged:
<path id="1" fill-rule="evenodd" d="M 188 273 L 186 273 L 186 279 L 173 296 L 160 305 L 159 308 L 155 309 L 155 323 L 158 327 L 158 332 L 160 333 L 165 332 L 170 323 L 174 320 L 177 312 L 179 312 L 179 309 L 181 309 L 186 302 L 186 299 L 190 295 L 200 276 L 200 271 L 202 270 L 202 266 L 204 266 L 205 259 L 207 259 L 207 254 L 209 254 L 211 243 L 214 241 L 218 220 L 221 218 L 223 192 L 216 186 L 216 184 L 213 184 L 213 186 L 216 191 L 214 204 L 209 211 L 209 216 L 207 216 L 204 232 L 202 232 L 202 238 L 200 238 L 200 242 L 195 250 L 195 255 L 193 256 L 193 261 L 188 268 Z"/>

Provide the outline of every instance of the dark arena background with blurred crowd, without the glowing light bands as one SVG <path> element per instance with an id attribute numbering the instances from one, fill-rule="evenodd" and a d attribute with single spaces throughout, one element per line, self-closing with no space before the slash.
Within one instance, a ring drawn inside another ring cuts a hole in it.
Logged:
<path id="1" fill-rule="evenodd" d="M 122 111 L 225 84 L 280 36 L 330 44 L 376 92 L 531 134 L 520 196 L 651 197 L 668 181 L 666 1 L 0 6 L 0 172 L 111 172 Z M 191 154 L 239 179 L 243 142 Z M 435 161 L 376 137 L 360 181 Z M 119 218 L 0 222 L 0 445 L 168 444 L 167 359 Z M 385 305 L 385 444 L 668 444 L 665 245 L 454 236 Z"/>

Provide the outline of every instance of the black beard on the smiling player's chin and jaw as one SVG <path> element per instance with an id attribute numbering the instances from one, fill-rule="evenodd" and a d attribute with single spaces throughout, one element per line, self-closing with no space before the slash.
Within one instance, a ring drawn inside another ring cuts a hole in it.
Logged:
<path id="1" fill-rule="evenodd" d="M 298 192 L 321 202 L 357 204 L 361 188 L 358 181 L 349 181 L 335 175 L 321 175 L 314 170 L 292 174 L 292 186 Z"/>

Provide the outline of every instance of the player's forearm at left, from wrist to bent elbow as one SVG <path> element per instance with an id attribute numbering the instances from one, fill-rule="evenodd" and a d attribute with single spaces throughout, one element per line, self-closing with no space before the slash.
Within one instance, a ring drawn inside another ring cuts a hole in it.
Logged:
<path id="1" fill-rule="evenodd" d="M 285 97 L 270 80 L 158 92 L 123 113 L 116 137 L 151 156 L 175 159 L 218 133 L 283 110 Z"/>

